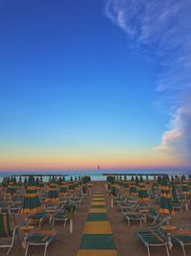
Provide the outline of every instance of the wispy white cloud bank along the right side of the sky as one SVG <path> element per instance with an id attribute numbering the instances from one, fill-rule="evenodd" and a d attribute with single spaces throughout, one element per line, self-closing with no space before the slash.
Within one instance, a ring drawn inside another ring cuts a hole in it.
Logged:
<path id="1" fill-rule="evenodd" d="M 155 149 L 191 162 L 191 1 L 107 0 L 105 13 L 130 46 L 159 63 L 156 90 L 170 120 Z"/>

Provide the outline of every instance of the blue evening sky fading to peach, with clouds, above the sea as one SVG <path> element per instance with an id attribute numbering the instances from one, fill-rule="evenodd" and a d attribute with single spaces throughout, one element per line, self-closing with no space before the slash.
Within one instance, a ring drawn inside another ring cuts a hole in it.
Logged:
<path id="1" fill-rule="evenodd" d="M 0 170 L 189 170 L 190 12 L 0 0 Z"/>

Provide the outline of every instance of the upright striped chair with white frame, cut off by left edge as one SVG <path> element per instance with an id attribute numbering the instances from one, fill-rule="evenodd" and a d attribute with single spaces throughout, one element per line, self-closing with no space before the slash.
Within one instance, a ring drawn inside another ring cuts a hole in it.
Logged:
<path id="1" fill-rule="evenodd" d="M 6 244 L 0 243 L 0 248 L 9 248 L 7 255 L 9 255 L 12 246 L 14 245 L 15 236 L 17 236 L 18 242 L 20 244 L 20 239 L 18 236 L 18 226 L 15 226 L 13 231 L 11 231 L 10 215 L 0 213 L 0 241 L 6 238 Z M 7 239 L 9 241 L 7 241 Z"/>

